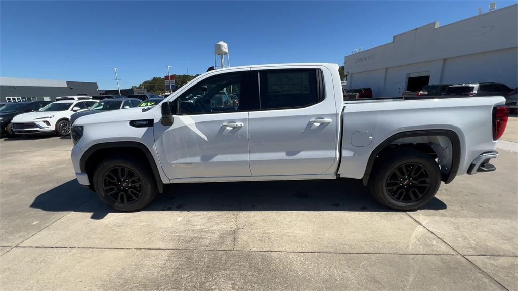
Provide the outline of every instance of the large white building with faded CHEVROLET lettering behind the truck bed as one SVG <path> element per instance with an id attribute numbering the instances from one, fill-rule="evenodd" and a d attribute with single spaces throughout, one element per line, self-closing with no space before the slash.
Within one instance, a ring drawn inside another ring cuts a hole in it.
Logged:
<path id="1" fill-rule="evenodd" d="M 439 26 L 430 23 L 393 41 L 347 55 L 347 89 L 401 96 L 428 84 L 498 82 L 518 86 L 518 4 Z"/>

